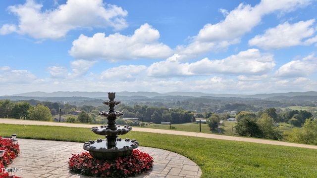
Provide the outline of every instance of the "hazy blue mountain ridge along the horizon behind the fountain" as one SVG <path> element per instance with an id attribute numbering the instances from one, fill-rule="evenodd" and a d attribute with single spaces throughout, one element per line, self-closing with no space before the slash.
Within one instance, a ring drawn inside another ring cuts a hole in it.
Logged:
<path id="1" fill-rule="evenodd" d="M 94 91 L 55 91 L 55 92 L 26 92 L 13 95 L 4 95 L 4 96 L 25 96 L 25 97 L 89 97 L 89 98 L 107 98 L 107 92 Z M 120 91 L 116 92 L 116 96 L 143 96 L 148 98 L 153 97 L 163 97 L 163 96 L 192 96 L 192 97 L 202 97 L 202 96 L 212 96 L 212 97 L 241 97 L 241 98 L 258 98 L 265 99 L 271 97 L 294 97 L 294 96 L 317 96 L 317 91 L 306 91 L 306 92 L 287 92 L 287 93 L 262 93 L 262 94 L 212 94 L 212 93 L 203 93 L 203 92 L 167 92 L 167 93 L 158 93 L 158 92 L 148 92 L 148 91 Z"/>

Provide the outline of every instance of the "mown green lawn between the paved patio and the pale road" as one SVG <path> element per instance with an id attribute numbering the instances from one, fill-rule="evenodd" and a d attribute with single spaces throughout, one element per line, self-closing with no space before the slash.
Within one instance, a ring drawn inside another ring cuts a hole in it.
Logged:
<path id="1" fill-rule="evenodd" d="M 176 127 L 176 126 L 175 126 Z M 103 138 L 87 128 L 1 124 L 0 135 L 86 142 Z M 202 178 L 316 178 L 317 150 L 131 131 L 122 138 L 173 151 L 197 163 Z"/>

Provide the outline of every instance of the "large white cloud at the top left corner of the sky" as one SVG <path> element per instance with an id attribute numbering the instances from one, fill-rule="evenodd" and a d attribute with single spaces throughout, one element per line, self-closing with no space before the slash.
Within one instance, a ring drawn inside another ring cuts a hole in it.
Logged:
<path id="1" fill-rule="evenodd" d="M 104 4 L 102 0 L 67 0 L 55 9 L 42 11 L 43 5 L 34 0 L 8 7 L 18 17 L 18 25 L 4 24 L 0 34 L 16 32 L 35 39 L 59 39 L 77 28 L 127 27 L 127 11 L 121 7 Z"/>

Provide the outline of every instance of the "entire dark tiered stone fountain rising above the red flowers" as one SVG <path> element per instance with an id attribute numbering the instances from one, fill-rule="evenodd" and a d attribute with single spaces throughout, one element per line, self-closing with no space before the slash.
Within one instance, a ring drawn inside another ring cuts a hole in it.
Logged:
<path id="1" fill-rule="evenodd" d="M 109 101 L 103 101 L 103 103 L 109 106 L 109 111 L 99 113 L 99 115 L 107 118 L 108 125 L 91 129 L 95 134 L 105 135 L 106 139 L 90 140 L 84 143 L 84 149 L 89 151 L 93 158 L 102 160 L 112 160 L 118 156 L 129 156 L 132 154 L 133 149 L 139 146 L 136 140 L 118 138 L 118 135 L 130 132 L 132 127 L 116 125 L 116 118 L 123 115 L 123 112 L 114 111 L 114 106 L 120 104 L 120 101 L 114 101 L 115 92 L 108 92 L 108 98 Z"/>

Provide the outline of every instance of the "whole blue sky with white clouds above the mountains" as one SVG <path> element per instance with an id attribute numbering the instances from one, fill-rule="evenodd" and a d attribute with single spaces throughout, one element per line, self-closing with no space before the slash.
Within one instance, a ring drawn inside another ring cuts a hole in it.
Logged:
<path id="1" fill-rule="evenodd" d="M 1 0 L 0 95 L 317 89 L 316 0 Z"/>

